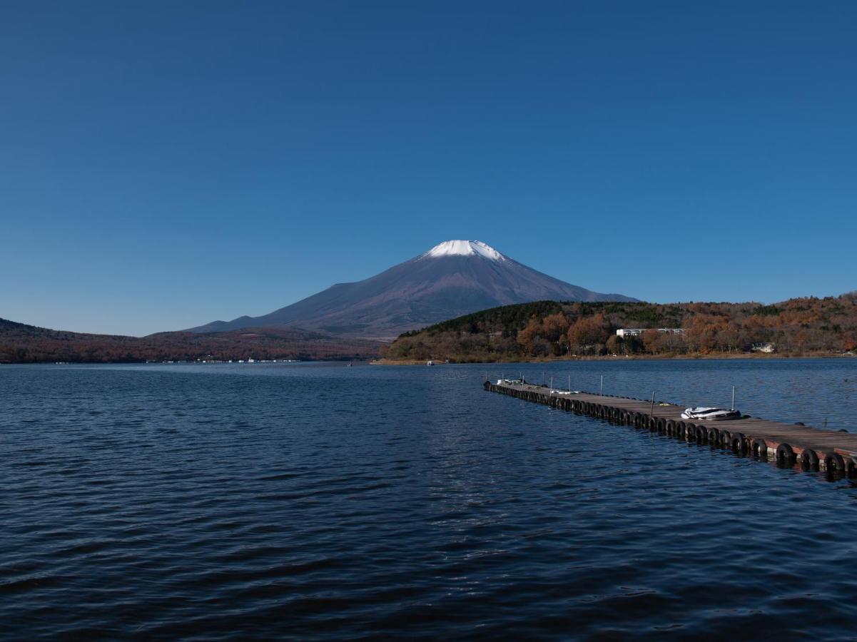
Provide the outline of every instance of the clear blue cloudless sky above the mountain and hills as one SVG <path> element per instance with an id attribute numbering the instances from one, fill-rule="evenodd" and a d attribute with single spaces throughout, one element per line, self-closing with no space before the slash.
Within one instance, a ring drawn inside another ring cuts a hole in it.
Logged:
<path id="1" fill-rule="evenodd" d="M 260 315 L 451 238 L 651 301 L 857 288 L 857 3 L 0 3 L 0 316 Z"/>

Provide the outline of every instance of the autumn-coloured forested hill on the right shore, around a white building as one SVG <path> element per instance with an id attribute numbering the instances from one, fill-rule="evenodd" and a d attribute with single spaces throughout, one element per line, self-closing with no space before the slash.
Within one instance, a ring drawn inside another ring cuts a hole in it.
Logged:
<path id="1" fill-rule="evenodd" d="M 644 328 L 622 338 L 619 328 Z M 675 328 L 683 332 L 659 332 Z M 456 362 L 604 355 L 788 356 L 857 349 L 857 293 L 759 303 L 559 303 L 506 305 L 405 333 L 388 359 Z"/>

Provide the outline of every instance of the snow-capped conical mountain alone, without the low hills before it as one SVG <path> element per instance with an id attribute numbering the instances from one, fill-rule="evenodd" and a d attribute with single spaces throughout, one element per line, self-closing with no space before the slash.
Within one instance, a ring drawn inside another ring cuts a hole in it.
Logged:
<path id="1" fill-rule="evenodd" d="M 213 321 L 188 332 L 303 327 L 338 336 L 394 339 L 405 331 L 477 310 L 545 299 L 637 300 L 554 279 L 480 241 L 446 241 L 374 277 L 333 285 L 270 314 Z"/>

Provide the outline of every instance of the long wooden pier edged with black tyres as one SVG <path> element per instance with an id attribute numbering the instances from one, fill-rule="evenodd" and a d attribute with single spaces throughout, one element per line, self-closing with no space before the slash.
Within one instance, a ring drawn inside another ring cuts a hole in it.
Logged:
<path id="1" fill-rule="evenodd" d="M 530 383 L 485 381 L 491 393 L 506 394 L 578 415 L 596 417 L 637 429 L 649 429 L 686 441 L 710 443 L 785 465 L 800 465 L 857 477 L 857 435 L 799 423 L 772 422 L 744 416 L 723 421 L 681 418 L 686 406 L 605 394 L 569 392 Z"/>

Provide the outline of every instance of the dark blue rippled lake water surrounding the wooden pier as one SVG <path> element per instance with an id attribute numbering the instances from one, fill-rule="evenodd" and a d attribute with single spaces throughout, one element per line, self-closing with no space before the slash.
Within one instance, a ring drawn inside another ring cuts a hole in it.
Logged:
<path id="1" fill-rule="evenodd" d="M 855 430 L 857 361 L 493 366 Z M 0 367 L 9 639 L 857 636 L 857 489 L 484 366 Z"/>

